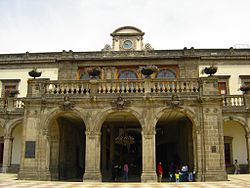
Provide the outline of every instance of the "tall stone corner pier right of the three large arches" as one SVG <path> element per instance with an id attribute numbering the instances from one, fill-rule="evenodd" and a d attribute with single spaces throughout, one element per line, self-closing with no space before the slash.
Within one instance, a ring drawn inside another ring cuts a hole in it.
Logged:
<path id="1" fill-rule="evenodd" d="M 222 97 L 218 92 L 218 80 L 209 76 L 201 80 L 201 132 L 203 155 L 202 181 L 227 180 L 224 157 L 224 133 Z"/>

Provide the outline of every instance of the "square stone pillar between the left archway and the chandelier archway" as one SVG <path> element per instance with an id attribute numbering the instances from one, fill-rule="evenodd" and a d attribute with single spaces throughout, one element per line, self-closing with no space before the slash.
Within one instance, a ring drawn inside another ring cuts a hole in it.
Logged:
<path id="1" fill-rule="evenodd" d="M 83 181 L 102 181 L 100 170 L 101 133 L 86 131 L 86 157 Z"/>

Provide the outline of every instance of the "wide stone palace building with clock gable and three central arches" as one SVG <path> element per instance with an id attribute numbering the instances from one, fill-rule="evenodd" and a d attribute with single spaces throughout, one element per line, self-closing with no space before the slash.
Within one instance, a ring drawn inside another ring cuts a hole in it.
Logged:
<path id="1" fill-rule="evenodd" d="M 111 36 L 101 51 L 0 55 L 3 173 L 112 181 L 112 162 L 127 162 L 148 182 L 161 161 L 211 181 L 235 159 L 249 172 L 250 49 L 155 50 L 131 26 Z"/>

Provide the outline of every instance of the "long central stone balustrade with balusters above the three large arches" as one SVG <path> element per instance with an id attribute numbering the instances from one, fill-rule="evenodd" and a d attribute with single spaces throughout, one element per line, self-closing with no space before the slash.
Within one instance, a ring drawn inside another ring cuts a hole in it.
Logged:
<path id="1" fill-rule="evenodd" d="M 45 81 L 45 94 L 198 93 L 197 79 Z"/>

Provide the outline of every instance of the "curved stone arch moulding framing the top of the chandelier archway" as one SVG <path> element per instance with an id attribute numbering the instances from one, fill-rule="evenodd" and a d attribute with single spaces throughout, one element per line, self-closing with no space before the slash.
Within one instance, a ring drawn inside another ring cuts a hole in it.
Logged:
<path id="1" fill-rule="evenodd" d="M 95 131 L 101 131 L 103 122 L 106 120 L 107 116 L 110 114 L 113 114 L 117 112 L 117 109 L 114 108 L 109 108 L 109 109 L 105 109 L 104 111 L 100 112 L 98 114 L 98 119 L 95 119 L 95 123 L 94 125 L 96 125 L 96 127 L 94 128 Z M 143 117 L 140 115 L 140 113 L 138 113 L 137 111 L 130 109 L 130 108 L 125 108 L 120 110 L 119 112 L 126 112 L 126 113 L 130 113 L 132 114 L 140 123 L 141 128 L 143 129 L 144 127 L 144 120 Z"/>

